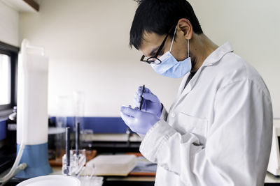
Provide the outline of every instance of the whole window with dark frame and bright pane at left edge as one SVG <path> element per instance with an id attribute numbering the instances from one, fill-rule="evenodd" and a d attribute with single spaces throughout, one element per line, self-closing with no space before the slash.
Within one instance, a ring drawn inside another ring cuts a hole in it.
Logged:
<path id="1" fill-rule="evenodd" d="M 16 105 L 18 47 L 0 42 L 0 117 Z"/>

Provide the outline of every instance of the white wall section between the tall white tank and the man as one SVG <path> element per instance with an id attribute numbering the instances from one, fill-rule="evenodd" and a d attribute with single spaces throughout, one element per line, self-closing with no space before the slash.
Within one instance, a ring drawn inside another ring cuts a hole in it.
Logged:
<path id="1" fill-rule="evenodd" d="M 180 79 L 155 74 L 128 47 L 136 8 L 132 0 L 43 0 L 38 14 L 20 14 L 20 40 L 44 46 L 50 57 L 50 114 L 57 95 L 84 91 L 85 116 L 120 116 L 143 84 L 170 107 Z"/>

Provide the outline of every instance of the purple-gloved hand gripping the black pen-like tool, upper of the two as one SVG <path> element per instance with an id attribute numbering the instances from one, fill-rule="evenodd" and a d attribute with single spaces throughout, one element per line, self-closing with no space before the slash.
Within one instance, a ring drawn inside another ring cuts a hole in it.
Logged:
<path id="1" fill-rule="evenodd" d="M 136 93 L 134 94 L 134 106 L 140 107 L 142 96 L 144 100 L 141 110 L 148 111 L 160 118 L 160 115 L 162 114 L 162 104 L 160 103 L 160 100 L 158 100 L 158 97 L 154 95 L 148 88 L 145 88 L 144 93 L 142 94 L 142 88 L 143 86 L 139 86 Z"/>

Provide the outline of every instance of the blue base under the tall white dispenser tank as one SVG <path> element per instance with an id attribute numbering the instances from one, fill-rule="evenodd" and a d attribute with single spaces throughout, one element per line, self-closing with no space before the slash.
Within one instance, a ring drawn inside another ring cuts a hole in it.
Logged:
<path id="1" fill-rule="evenodd" d="M 18 144 L 19 149 L 20 145 Z M 20 163 L 26 163 L 27 168 L 20 171 L 15 176 L 16 178 L 34 178 L 51 173 L 52 168 L 50 168 L 50 164 L 48 163 L 48 143 L 26 145 Z"/>

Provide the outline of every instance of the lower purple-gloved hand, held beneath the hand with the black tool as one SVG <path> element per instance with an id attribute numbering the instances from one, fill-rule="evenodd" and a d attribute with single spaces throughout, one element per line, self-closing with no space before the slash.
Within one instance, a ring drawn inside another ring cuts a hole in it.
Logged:
<path id="1" fill-rule="evenodd" d="M 139 134 L 146 134 L 155 123 L 160 121 L 160 118 L 155 114 L 140 111 L 137 107 L 135 109 L 132 107 L 120 107 L 120 116 L 133 132 Z"/>

